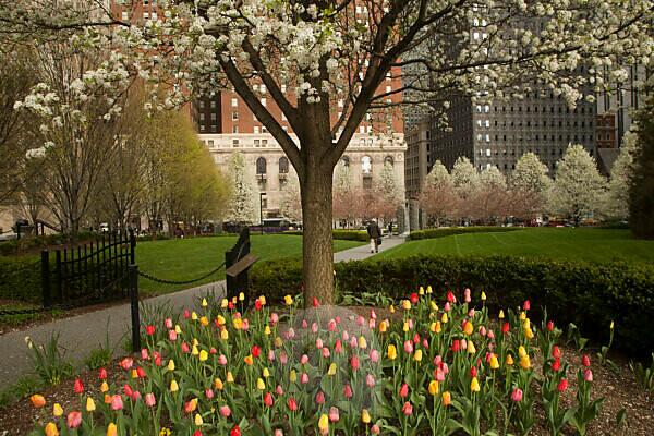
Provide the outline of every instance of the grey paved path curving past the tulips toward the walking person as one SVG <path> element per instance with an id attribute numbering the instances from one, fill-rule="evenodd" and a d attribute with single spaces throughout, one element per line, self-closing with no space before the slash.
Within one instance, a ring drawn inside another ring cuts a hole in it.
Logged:
<path id="1" fill-rule="evenodd" d="M 403 238 L 384 238 L 379 251 L 386 251 L 404 242 Z M 335 253 L 335 262 L 361 261 L 372 256 L 370 245 L 356 246 Z M 201 287 L 159 295 L 145 300 L 147 304 L 170 304 L 181 310 L 194 304 L 195 298 L 207 292 L 222 295 L 225 280 Z M 120 304 L 100 311 L 88 312 L 70 318 L 57 319 L 26 330 L 12 331 L 0 336 L 0 387 L 13 385 L 19 377 L 33 372 L 32 362 L 27 354 L 25 337 L 31 337 L 35 343 L 46 343 L 52 332 L 59 331 L 60 346 L 66 351 L 65 358 L 77 366 L 83 366 L 84 359 L 92 350 L 104 344 L 106 335 L 114 349 L 116 355 L 124 354 L 125 338 L 130 335 L 130 304 Z M 107 328 L 107 330 L 106 330 Z"/>

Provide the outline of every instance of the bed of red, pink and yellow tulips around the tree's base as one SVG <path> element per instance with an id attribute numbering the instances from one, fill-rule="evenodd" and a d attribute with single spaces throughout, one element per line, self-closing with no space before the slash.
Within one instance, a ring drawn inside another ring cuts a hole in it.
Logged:
<path id="1" fill-rule="evenodd" d="M 602 403 L 589 358 L 571 373 L 552 320 L 533 325 L 529 302 L 491 319 L 477 296 L 475 310 L 469 290 L 421 289 L 384 319 L 300 311 L 290 295 L 284 315 L 262 298 L 244 316 L 205 300 L 145 326 L 140 359 L 99 371 L 100 395 L 76 380 L 70 410 L 33 396 L 34 434 L 526 434 L 537 410 L 553 434 L 583 434 Z M 560 401 L 571 378 L 572 404 Z"/>

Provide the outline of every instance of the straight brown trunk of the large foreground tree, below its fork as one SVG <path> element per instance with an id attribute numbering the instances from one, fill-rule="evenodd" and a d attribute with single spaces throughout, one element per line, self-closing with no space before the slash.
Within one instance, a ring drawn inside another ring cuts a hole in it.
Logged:
<path id="1" fill-rule="evenodd" d="M 320 165 L 323 164 L 323 165 Z M 331 247 L 332 168 L 324 162 L 307 165 L 301 181 L 303 283 L 305 305 L 314 298 L 320 304 L 334 303 L 334 254 Z"/>

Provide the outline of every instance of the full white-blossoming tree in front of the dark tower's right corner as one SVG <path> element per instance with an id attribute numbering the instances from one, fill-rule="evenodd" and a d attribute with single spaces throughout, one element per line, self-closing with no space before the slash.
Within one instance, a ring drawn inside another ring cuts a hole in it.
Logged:
<path id="1" fill-rule="evenodd" d="M 606 179 L 600 174 L 595 159 L 582 145 L 568 147 L 554 181 L 554 211 L 571 216 L 579 223 L 583 215 L 601 210 L 605 194 Z"/>

